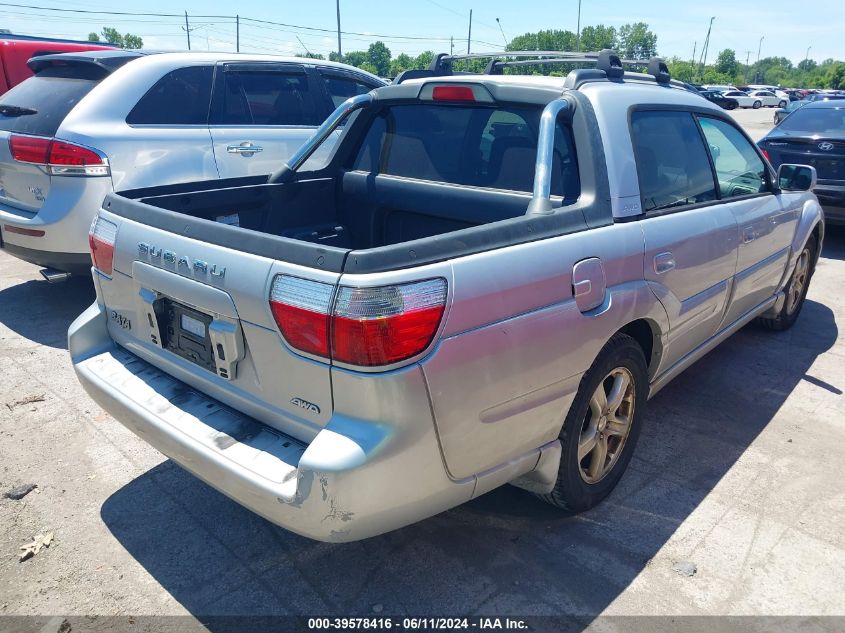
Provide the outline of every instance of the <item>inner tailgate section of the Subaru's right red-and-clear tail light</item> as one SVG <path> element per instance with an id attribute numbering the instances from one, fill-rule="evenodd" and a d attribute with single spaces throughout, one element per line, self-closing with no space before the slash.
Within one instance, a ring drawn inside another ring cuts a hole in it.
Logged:
<path id="1" fill-rule="evenodd" d="M 270 291 L 270 309 L 292 347 L 329 357 L 329 310 L 334 286 L 279 275 Z"/>

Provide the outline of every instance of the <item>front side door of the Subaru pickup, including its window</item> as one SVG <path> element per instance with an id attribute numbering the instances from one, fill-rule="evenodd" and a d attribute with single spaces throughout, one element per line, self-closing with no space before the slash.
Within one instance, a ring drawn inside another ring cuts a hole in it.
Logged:
<path id="1" fill-rule="evenodd" d="M 783 277 L 800 208 L 776 196 L 763 158 L 732 123 L 699 116 L 713 160 L 719 197 L 739 227 L 737 272 L 729 325 L 771 297 Z M 792 196 L 797 200 L 797 196 Z"/>

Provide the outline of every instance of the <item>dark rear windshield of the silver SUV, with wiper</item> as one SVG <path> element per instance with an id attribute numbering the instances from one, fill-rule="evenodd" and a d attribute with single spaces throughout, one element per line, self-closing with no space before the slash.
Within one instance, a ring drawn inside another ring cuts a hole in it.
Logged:
<path id="1" fill-rule="evenodd" d="M 70 74 L 74 76 L 68 76 Z M 0 96 L 0 106 L 35 110 L 33 114 L 14 113 L 11 108 L 7 109 L 7 114 L 0 112 L 0 130 L 36 136 L 55 135 L 68 113 L 100 83 L 101 78 L 101 73 L 92 77 L 86 72 L 68 73 L 66 68 L 41 71 Z"/>

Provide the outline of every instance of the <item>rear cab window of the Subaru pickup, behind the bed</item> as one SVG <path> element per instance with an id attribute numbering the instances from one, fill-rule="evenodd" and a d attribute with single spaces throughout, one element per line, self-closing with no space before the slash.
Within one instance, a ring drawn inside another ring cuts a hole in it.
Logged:
<path id="1" fill-rule="evenodd" d="M 393 106 L 374 119 L 353 169 L 530 192 L 541 114 L 522 106 Z M 552 194 L 577 198 L 580 189 L 571 131 L 559 122 Z"/>

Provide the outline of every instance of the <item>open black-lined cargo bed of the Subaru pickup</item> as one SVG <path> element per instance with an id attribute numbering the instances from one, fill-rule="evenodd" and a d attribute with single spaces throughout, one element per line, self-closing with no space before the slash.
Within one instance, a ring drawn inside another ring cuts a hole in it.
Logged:
<path id="1" fill-rule="evenodd" d="M 105 207 L 290 263 L 379 272 L 585 228 L 575 209 L 526 216 L 530 200 L 528 193 L 342 171 L 279 184 L 251 177 L 138 189 L 109 195 Z M 568 202 L 553 199 L 556 207 Z"/>

